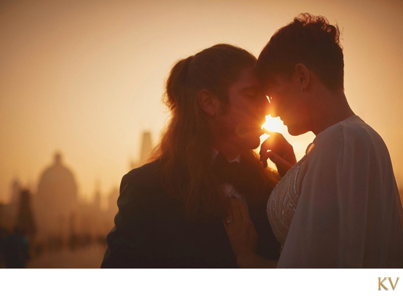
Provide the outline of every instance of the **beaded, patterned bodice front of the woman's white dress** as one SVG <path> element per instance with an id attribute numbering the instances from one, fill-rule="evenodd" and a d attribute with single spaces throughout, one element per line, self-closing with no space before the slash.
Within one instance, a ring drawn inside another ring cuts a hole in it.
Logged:
<path id="1" fill-rule="evenodd" d="M 297 208 L 305 171 L 306 155 L 285 174 L 267 201 L 267 217 L 282 249 Z"/>

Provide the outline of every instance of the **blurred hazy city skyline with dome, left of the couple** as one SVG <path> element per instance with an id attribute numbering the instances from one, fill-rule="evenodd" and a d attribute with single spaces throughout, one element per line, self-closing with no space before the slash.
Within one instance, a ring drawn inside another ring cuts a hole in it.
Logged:
<path id="1" fill-rule="evenodd" d="M 140 156 L 129 167 L 143 165 L 152 148 L 145 131 Z M 36 188 L 12 182 L 10 202 L 0 203 L 0 268 L 100 266 L 119 188 L 101 192 L 97 183 L 91 198 L 85 198 L 78 185 L 74 168 L 66 167 L 60 152 L 42 170 Z"/>

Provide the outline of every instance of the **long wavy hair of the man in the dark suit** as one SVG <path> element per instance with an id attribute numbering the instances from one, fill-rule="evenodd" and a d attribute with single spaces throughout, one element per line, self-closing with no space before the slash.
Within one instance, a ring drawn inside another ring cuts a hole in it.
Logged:
<path id="1" fill-rule="evenodd" d="M 171 69 L 164 97 L 171 118 L 152 160 L 160 161 L 162 186 L 182 202 L 189 220 L 222 217 L 225 212 L 223 189 L 212 171 L 212 134 L 197 95 L 207 89 L 228 105 L 229 85 L 255 64 L 246 50 L 218 44 L 179 60 Z M 275 174 L 263 169 L 252 150 L 243 151 L 241 159 L 258 174 L 256 196 L 275 186 Z"/>

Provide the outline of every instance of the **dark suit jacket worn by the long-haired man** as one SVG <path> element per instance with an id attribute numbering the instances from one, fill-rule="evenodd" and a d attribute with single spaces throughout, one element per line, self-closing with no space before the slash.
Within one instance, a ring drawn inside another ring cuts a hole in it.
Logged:
<path id="1" fill-rule="evenodd" d="M 265 194 L 249 203 L 249 214 L 258 234 L 257 253 L 278 260 L 280 244 L 267 220 L 267 199 Z M 237 267 L 222 219 L 208 224 L 187 221 L 180 201 L 159 183 L 158 161 L 122 178 L 117 205 L 102 268 Z"/>

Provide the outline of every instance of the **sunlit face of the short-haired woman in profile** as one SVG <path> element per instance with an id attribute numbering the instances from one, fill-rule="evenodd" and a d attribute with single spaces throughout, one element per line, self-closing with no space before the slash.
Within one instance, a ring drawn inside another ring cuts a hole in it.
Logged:
<path id="1" fill-rule="evenodd" d="M 264 86 L 264 91 L 270 101 L 271 116 L 280 116 L 291 135 L 311 130 L 309 100 L 296 78 L 275 76 Z"/>

